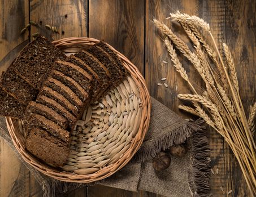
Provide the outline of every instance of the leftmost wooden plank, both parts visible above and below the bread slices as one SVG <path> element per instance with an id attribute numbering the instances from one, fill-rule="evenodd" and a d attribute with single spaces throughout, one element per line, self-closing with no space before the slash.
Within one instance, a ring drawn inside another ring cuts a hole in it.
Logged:
<path id="1" fill-rule="evenodd" d="M 0 74 L 28 43 L 28 32 L 20 30 L 28 23 L 28 0 L 2 1 L 0 4 Z M 14 151 L 0 138 L 0 196 L 29 196 L 29 171 Z"/>

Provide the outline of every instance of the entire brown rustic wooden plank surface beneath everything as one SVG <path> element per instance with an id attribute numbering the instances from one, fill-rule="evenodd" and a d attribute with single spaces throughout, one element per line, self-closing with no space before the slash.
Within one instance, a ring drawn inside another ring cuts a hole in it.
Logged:
<path id="1" fill-rule="evenodd" d="M 5 70 L 18 52 L 40 32 L 48 38 L 92 37 L 103 39 L 127 56 L 145 76 L 152 96 L 177 113 L 177 93 L 188 92 L 188 87 L 172 68 L 154 27 L 153 18 L 165 21 L 171 11 L 197 15 L 210 23 L 216 40 L 225 41 L 233 49 L 245 109 L 256 95 L 256 1 L 203 0 L 3 0 L 0 3 L 0 71 Z M 67 15 L 67 18 L 65 17 Z M 29 20 L 41 25 L 20 35 Z M 170 25 L 169 21 L 166 21 Z M 57 26 L 53 34 L 45 24 Z M 177 33 L 181 33 L 177 30 Z M 185 37 L 184 37 L 185 38 Z M 219 44 L 219 47 L 221 45 Z M 201 86 L 194 69 L 185 65 L 190 77 Z M 166 77 L 168 88 L 158 87 Z M 183 116 L 186 116 L 183 114 Z M 211 167 L 219 169 L 211 174 L 211 192 L 214 196 L 248 196 L 244 178 L 227 144 L 215 131 L 209 129 Z M 220 186 L 223 187 L 222 191 Z M 0 139 L 0 196 L 42 196 L 42 190 L 32 174 L 19 162 L 8 145 Z M 84 187 L 64 196 L 159 196 L 150 192 L 138 193 L 103 186 Z"/>

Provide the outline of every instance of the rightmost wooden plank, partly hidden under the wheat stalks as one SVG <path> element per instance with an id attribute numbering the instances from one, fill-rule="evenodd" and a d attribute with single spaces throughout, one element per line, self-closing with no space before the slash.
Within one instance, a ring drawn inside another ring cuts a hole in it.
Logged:
<path id="1" fill-rule="evenodd" d="M 233 51 L 246 114 L 256 95 L 256 2 L 225 1 L 225 37 Z M 249 196 L 249 189 L 232 151 L 229 176 L 233 196 Z"/>

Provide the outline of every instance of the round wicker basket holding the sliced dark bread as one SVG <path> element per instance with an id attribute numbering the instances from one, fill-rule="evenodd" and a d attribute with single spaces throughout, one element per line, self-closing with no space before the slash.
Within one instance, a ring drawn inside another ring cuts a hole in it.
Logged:
<path id="1" fill-rule="evenodd" d="M 97 42 L 93 38 L 64 38 L 53 43 L 64 52 L 73 53 Z M 30 154 L 25 149 L 21 121 L 6 118 L 16 149 L 38 171 L 61 181 L 98 181 L 124 167 L 140 148 L 149 127 L 149 92 L 136 66 L 116 53 L 128 70 L 128 78 L 84 111 L 72 132 L 71 151 L 63 168 L 51 167 Z"/>

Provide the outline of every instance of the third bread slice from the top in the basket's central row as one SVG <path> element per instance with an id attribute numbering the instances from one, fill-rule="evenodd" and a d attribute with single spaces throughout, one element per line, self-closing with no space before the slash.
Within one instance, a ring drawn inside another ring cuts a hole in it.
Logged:
<path id="1" fill-rule="evenodd" d="M 49 77 L 44 86 L 50 87 L 54 91 L 60 93 L 60 95 L 63 95 L 73 106 L 76 106 L 78 110 L 84 107 L 84 102 L 80 100 L 79 96 L 58 79 Z"/>

